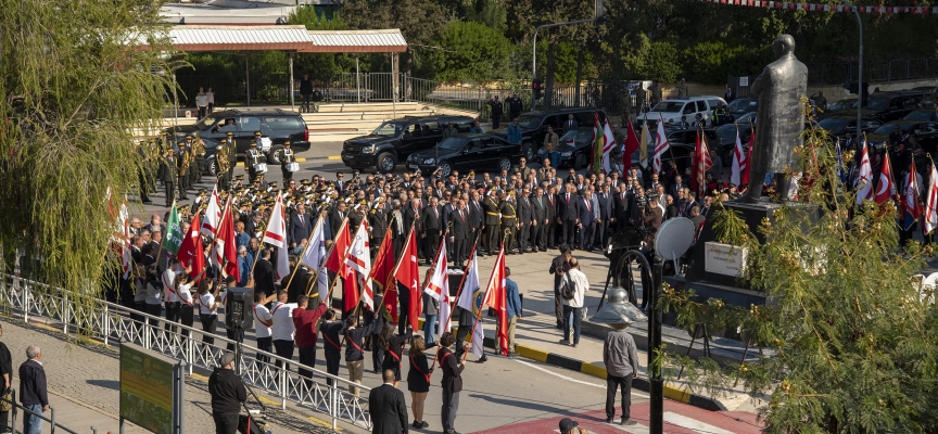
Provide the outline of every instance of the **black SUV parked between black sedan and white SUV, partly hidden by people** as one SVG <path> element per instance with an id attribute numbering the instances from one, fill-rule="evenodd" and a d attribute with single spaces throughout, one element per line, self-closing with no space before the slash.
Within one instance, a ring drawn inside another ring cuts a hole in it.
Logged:
<path id="1" fill-rule="evenodd" d="M 599 122 L 606 119 L 606 112 L 590 107 L 556 108 L 537 112 L 522 113 L 518 116 L 518 126 L 521 127 L 521 149 L 529 162 L 535 161 L 534 156 L 544 144 L 544 136 L 547 127 L 553 127 L 557 137 L 563 137 L 569 130 L 567 120 L 573 115 L 578 127 L 593 127 L 596 124 L 596 113 L 599 113 Z M 506 125 L 507 127 L 507 125 Z"/>

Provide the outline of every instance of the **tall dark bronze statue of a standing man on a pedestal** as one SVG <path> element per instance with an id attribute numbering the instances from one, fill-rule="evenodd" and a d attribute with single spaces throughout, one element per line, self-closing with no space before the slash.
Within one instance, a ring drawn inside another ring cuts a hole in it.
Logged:
<path id="1" fill-rule="evenodd" d="M 775 39 L 775 55 L 762 75 L 752 82 L 752 94 L 759 99 L 756 122 L 756 148 L 749 162 L 747 199 L 758 202 L 765 174 L 775 174 L 778 197 L 788 199 L 790 177 L 785 167 L 796 169 L 794 149 L 801 144 L 804 114 L 801 97 L 808 94 L 808 67 L 795 59 L 795 38 L 782 35 Z"/>

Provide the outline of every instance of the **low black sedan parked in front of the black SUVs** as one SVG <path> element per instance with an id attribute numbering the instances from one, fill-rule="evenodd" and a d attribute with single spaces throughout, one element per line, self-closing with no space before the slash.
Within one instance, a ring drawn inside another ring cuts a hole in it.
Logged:
<path id="1" fill-rule="evenodd" d="M 453 170 L 510 169 L 521 161 L 521 146 L 508 143 L 505 135 L 470 133 L 451 137 L 432 149 L 415 152 L 407 157 L 407 167 L 442 176 Z"/>

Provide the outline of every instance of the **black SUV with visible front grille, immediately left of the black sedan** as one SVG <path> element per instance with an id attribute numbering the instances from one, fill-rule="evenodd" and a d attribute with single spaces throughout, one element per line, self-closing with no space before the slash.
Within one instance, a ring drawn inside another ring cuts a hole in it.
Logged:
<path id="1" fill-rule="evenodd" d="M 415 152 L 431 149 L 443 139 L 449 123 L 459 132 L 472 128 L 469 116 L 404 117 L 381 124 L 368 136 L 348 139 L 342 144 L 342 163 L 353 169 L 377 167 L 390 174 Z"/>

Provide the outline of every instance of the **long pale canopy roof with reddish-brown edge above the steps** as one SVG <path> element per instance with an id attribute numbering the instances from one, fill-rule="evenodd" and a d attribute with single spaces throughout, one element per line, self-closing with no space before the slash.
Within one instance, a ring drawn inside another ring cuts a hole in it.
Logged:
<path id="1" fill-rule="evenodd" d="M 401 30 L 306 30 L 282 26 L 173 26 L 173 46 L 180 51 L 263 51 L 301 53 L 390 53 L 407 50 Z"/>

